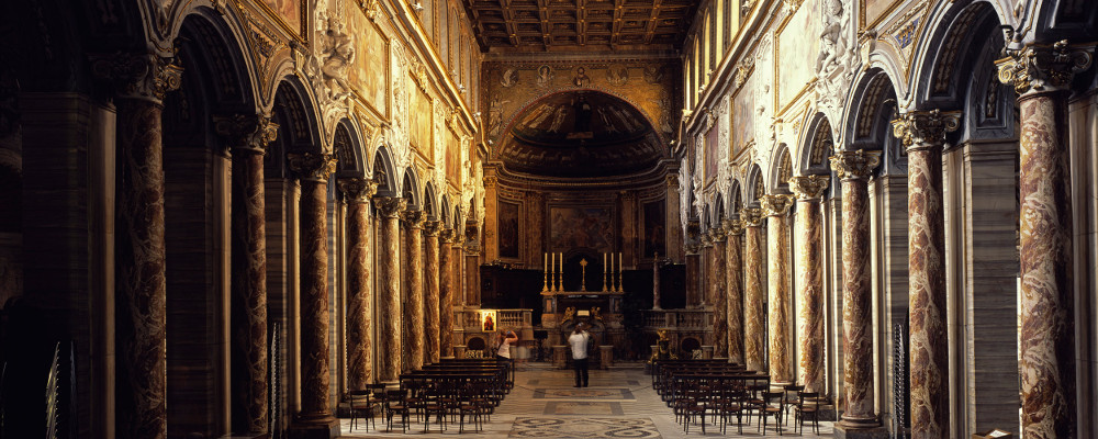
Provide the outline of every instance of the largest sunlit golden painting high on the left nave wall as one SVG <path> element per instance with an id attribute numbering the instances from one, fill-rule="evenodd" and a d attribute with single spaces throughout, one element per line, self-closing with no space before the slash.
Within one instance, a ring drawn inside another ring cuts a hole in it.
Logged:
<path id="1" fill-rule="evenodd" d="M 389 42 L 357 2 L 344 3 L 347 32 L 355 40 L 350 83 L 356 94 L 382 116 L 389 115 Z"/>

